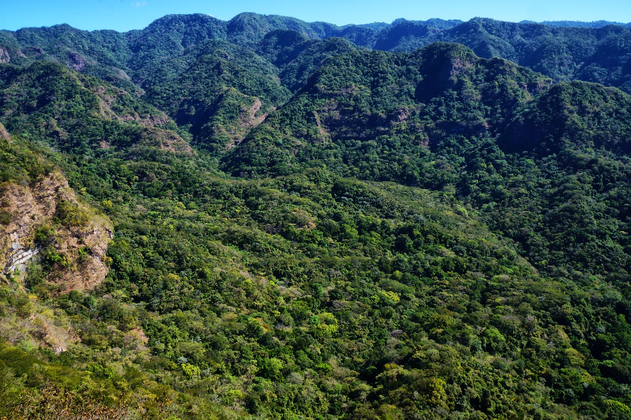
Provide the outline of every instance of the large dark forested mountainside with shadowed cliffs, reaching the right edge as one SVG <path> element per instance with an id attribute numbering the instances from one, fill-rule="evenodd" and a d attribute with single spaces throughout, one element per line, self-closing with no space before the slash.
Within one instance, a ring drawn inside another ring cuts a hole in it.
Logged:
<path id="1" fill-rule="evenodd" d="M 353 52 L 323 66 L 222 165 L 241 177 L 326 165 L 442 189 L 482 209 L 542 270 L 625 278 L 629 109 L 622 91 L 550 87 L 550 79 L 456 44 L 412 55 Z M 583 215 L 580 224 L 573 214 Z"/>

